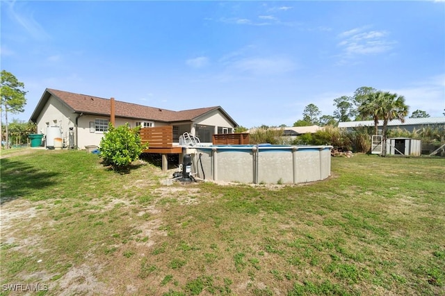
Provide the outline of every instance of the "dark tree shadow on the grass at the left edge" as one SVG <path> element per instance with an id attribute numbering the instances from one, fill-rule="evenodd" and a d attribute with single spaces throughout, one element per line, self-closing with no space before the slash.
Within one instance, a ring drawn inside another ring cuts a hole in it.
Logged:
<path id="1" fill-rule="evenodd" d="M 0 204 L 31 195 L 35 190 L 54 186 L 54 177 L 59 174 L 40 170 L 22 161 L 10 161 L 8 158 L 0 160 L 0 171 Z"/>

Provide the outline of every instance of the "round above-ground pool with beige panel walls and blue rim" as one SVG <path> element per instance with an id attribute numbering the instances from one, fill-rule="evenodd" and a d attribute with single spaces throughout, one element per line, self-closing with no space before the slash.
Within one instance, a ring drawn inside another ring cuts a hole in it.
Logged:
<path id="1" fill-rule="evenodd" d="M 241 183 L 306 183 L 331 172 L 332 146 L 217 145 L 189 147 L 200 179 Z"/>

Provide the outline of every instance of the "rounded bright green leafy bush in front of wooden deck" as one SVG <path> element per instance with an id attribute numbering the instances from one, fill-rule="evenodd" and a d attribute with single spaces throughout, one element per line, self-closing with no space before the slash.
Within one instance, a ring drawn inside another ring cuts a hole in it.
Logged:
<path id="1" fill-rule="evenodd" d="M 139 130 L 140 126 L 131 129 L 129 124 L 124 124 L 115 128 L 109 124 L 99 146 L 105 165 L 111 165 L 113 170 L 124 170 L 131 162 L 139 159 L 145 148 L 140 141 Z"/>

